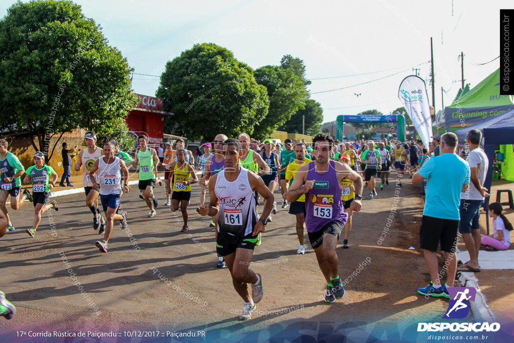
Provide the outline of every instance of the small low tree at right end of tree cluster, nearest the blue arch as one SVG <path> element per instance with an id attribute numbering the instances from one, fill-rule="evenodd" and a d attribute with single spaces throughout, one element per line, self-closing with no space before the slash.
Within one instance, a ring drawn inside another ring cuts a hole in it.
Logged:
<path id="1" fill-rule="evenodd" d="M 305 109 L 298 110 L 292 117 L 285 122 L 280 131 L 288 133 L 302 133 L 303 116 L 305 116 L 305 134 L 316 136 L 321 132 L 321 122 L 323 121 L 323 109 L 321 104 L 314 99 L 307 99 Z"/>

